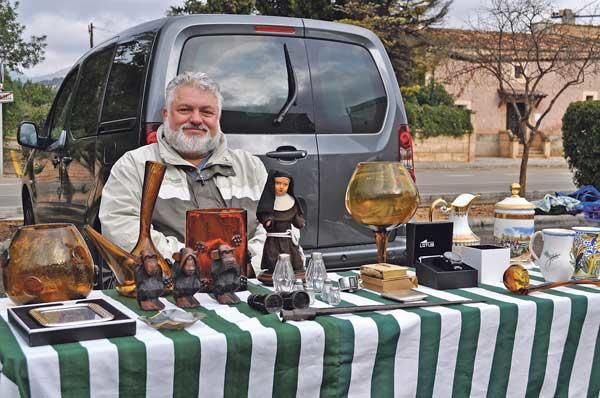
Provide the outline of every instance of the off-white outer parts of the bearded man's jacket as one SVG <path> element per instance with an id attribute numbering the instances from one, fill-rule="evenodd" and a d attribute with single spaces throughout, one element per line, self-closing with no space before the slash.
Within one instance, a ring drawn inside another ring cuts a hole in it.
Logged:
<path id="1" fill-rule="evenodd" d="M 112 167 L 102 191 L 100 222 L 102 234 L 121 248 L 131 251 L 139 235 L 140 204 L 146 161 L 167 165 L 158 193 L 157 205 L 178 213 L 173 219 L 178 227 L 185 225 L 185 211 L 194 208 L 191 202 L 186 172 L 176 166 L 192 166 L 163 138 L 162 126 L 157 132 L 158 142 L 125 153 Z M 208 165 L 219 164 L 233 168 L 233 175 L 215 175 L 215 184 L 227 207 L 244 208 L 248 216 L 248 250 L 254 271 L 258 274 L 266 231 L 256 220 L 256 207 L 267 180 L 267 171 L 259 158 L 240 150 L 227 148 L 225 134 L 208 160 Z M 181 217 L 183 215 L 183 217 Z M 179 224 L 180 223 L 180 224 Z M 184 247 L 173 236 L 151 231 L 152 241 L 165 258 Z"/>

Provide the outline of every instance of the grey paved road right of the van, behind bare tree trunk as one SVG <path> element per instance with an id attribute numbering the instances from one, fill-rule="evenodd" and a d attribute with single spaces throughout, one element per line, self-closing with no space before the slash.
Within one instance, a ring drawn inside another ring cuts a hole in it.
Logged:
<path id="1" fill-rule="evenodd" d="M 424 196 L 462 192 L 508 194 L 510 184 L 518 181 L 518 168 L 417 170 L 417 187 Z M 574 190 L 572 174 L 568 169 L 532 167 L 528 170 L 528 192 Z"/>

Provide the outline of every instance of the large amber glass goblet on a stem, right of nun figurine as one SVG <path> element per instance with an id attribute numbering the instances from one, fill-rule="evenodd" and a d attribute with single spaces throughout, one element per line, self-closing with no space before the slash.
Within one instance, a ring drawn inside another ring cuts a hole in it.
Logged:
<path id="1" fill-rule="evenodd" d="M 346 210 L 375 231 L 377 261 L 387 260 L 390 232 L 417 211 L 419 192 L 401 162 L 362 162 L 346 189 Z"/>

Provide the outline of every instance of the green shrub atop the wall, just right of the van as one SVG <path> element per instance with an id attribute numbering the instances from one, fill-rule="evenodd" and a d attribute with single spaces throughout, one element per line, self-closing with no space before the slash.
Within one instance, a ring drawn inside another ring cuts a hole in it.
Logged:
<path id="1" fill-rule="evenodd" d="M 406 118 L 420 137 L 460 137 L 473 131 L 471 112 L 454 105 L 441 84 L 402 89 Z"/>

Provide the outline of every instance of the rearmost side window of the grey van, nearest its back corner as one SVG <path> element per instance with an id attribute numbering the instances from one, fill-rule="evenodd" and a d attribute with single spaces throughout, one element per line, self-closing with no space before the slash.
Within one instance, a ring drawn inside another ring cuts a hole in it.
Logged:
<path id="1" fill-rule="evenodd" d="M 153 34 L 144 34 L 117 46 L 106 83 L 101 121 L 136 117 L 153 39 Z"/>

